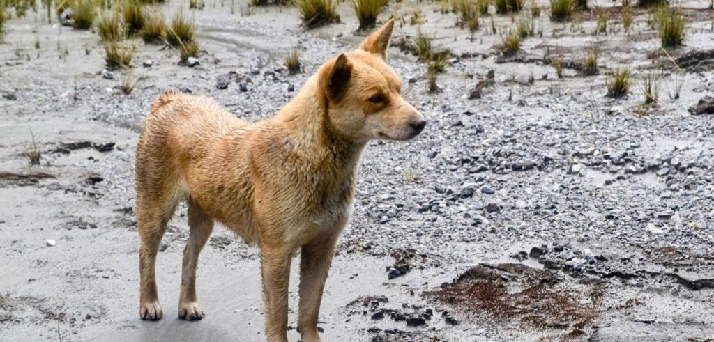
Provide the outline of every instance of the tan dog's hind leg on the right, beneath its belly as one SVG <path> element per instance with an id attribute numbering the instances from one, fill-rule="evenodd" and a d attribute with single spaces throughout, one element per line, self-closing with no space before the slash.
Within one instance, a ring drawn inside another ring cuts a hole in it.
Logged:
<path id="1" fill-rule="evenodd" d="M 213 231 L 213 218 L 203 211 L 193 199 L 188 199 L 188 236 L 186 248 L 183 248 L 183 269 L 181 271 L 181 297 L 178 301 L 178 318 L 198 321 L 203 318 L 203 309 L 196 299 L 196 266 L 198 253 L 208 241 Z"/>

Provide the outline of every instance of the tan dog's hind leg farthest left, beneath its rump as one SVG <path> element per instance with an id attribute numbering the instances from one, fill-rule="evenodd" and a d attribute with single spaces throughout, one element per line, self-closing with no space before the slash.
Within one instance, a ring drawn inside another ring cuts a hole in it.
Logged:
<path id="1" fill-rule="evenodd" d="M 139 315 L 141 319 L 156 321 L 164 315 L 156 292 L 156 253 L 159 252 L 161 238 L 166 231 L 166 224 L 174 214 L 176 203 L 150 201 L 146 197 L 139 194 L 136 199 L 136 224 L 141 238 Z"/>

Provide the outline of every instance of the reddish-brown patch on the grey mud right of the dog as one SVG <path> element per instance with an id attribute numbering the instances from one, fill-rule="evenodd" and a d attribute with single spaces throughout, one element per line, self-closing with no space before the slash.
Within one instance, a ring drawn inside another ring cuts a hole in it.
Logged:
<path id="1" fill-rule="evenodd" d="M 604 291 L 564 288 L 555 273 L 520 263 L 480 264 L 423 296 L 453 306 L 476 320 L 515 321 L 523 328 L 560 330 L 578 338 L 598 317 Z"/>

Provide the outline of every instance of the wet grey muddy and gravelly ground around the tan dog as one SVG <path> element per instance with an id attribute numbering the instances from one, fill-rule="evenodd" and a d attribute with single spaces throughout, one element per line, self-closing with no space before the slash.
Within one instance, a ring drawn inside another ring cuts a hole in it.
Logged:
<path id="1" fill-rule="evenodd" d="M 127 72 L 106 74 L 91 31 L 48 24 L 42 10 L 7 25 L 0 341 L 263 339 L 258 251 L 222 229 L 199 264 L 206 318 L 176 318 L 185 208 L 159 254 L 165 317 L 139 319 L 132 208 L 141 121 L 169 90 L 264 118 L 363 34 L 348 3 L 339 4 L 342 24 L 311 31 L 290 7 L 187 3 L 161 9 L 195 17 L 200 65 L 178 66 L 175 51 L 135 41 L 141 81 L 129 95 L 119 91 Z M 593 12 L 552 24 L 546 10 L 535 19 L 542 36 L 514 56 L 495 48 L 488 17 L 472 38 L 433 3 L 390 3 L 381 14 L 405 18 L 390 63 L 428 126 L 408 144 L 374 142 L 363 157 L 323 300 L 324 341 L 712 341 L 714 116 L 688 111 L 714 89 L 712 11 L 706 1 L 681 1 L 685 46 L 665 53 L 647 11 L 634 11 L 625 34 L 619 3 L 596 4 L 610 16 L 607 34 L 592 34 Z M 428 21 L 411 25 L 417 9 Z M 494 25 L 507 29 L 511 18 Z M 426 65 L 399 49 L 418 30 L 453 56 L 436 94 Z M 578 62 L 593 46 L 600 72 L 582 76 Z M 301 74 L 282 66 L 293 48 L 302 51 Z M 553 59 L 566 66 L 562 78 Z M 618 66 L 635 82 L 610 99 L 603 84 Z M 660 82 L 652 108 L 641 104 L 650 73 Z M 37 166 L 23 155 L 33 135 Z"/>

